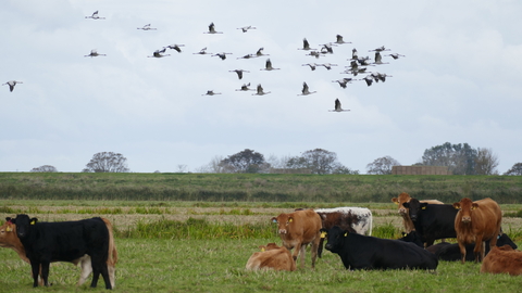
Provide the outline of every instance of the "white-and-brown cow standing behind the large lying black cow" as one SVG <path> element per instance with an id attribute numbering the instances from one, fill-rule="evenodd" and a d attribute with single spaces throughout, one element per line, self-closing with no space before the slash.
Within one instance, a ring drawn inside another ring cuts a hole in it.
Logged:
<path id="1" fill-rule="evenodd" d="M 336 207 L 315 209 L 321 216 L 323 229 L 330 230 L 334 226 L 339 226 L 344 230 L 359 233 L 361 235 L 372 234 L 372 212 L 365 207 Z M 323 242 L 319 242 L 318 255 L 323 254 Z"/>

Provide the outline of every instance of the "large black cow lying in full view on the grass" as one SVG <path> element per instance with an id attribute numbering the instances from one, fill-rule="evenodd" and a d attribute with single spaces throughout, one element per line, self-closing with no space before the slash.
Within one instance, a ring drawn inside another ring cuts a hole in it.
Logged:
<path id="1" fill-rule="evenodd" d="M 325 249 L 340 256 L 346 269 L 436 269 L 434 254 L 409 242 L 350 233 L 334 226 Z"/>

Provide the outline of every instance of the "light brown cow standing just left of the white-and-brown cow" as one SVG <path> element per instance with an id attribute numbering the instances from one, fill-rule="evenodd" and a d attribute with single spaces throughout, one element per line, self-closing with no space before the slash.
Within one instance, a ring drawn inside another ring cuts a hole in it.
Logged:
<path id="1" fill-rule="evenodd" d="M 297 262 L 297 256 L 300 255 L 301 268 L 304 267 L 307 245 L 312 244 L 312 268 L 314 268 L 321 240 L 321 217 L 319 214 L 313 209 L 297 211 L 273 217 L 272 221 L 278 226 L 283 245 L 288 250 L 296 249 L 293 254 L 295 262 Z"/>

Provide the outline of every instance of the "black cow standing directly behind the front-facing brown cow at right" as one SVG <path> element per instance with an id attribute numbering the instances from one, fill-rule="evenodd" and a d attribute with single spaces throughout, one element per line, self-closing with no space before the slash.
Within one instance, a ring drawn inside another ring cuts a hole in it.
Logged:
<path id="1" fill-rule="evenodd" d="M 451 204 L 427 204 L 417 199 L 402 204 L 409 208 L 409 215 L 425 246 L 433 245 L 437 239 L 457 238 L 455 216 L 459 212 Z"/>

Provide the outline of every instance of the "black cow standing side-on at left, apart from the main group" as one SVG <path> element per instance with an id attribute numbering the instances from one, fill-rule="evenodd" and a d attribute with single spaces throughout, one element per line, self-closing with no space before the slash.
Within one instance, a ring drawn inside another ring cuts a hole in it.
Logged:
<path id="1" fill-rule="evenodd" d="M 16 234 L 24 245 L 33 270 L 33 286 L 38 286 L 41 266 L 44 284 L 49 285 L 49 264 L 51 262 L 73 262 L 88 254 L 92 266 L 91 288 L 96 288 L 101 276 L 105 289 L 112 289 L 107 268 L 109 230 L 101 218 L 78 221 L 37 222 L 27 215 L 7 218 L 16 225 Z"/>

